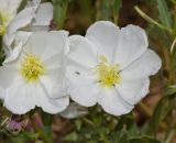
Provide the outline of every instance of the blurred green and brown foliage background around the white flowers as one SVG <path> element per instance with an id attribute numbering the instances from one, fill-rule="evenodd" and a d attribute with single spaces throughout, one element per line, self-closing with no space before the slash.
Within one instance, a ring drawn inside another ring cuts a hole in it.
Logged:
<path id="1" fill-rule="evenodd" d="M 163 67 L 151 78 L 148 96 L 122 117 L 107 114 L 98 106 L 89 108 L 87 116 L 69 120 L 40 109 L 19 117 L 0 103 L 0 143 L 176 143 L 176 0 L 51 2 L 51 29 L 65 29 L 70 35 L 85 35 L 98 20 L 113 21 L 120 28 L 135 24 L 145 29 L 150 47 L 158 53 Z M 25 3 L 23 0 L 19 11 Z M 0 63 L 3 58 L 1 51 Z"/>

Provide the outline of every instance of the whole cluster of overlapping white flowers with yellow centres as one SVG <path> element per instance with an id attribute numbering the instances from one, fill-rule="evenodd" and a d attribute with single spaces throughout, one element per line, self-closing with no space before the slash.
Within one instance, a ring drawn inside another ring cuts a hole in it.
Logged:
<path id="1" fill-rule="evenodd" d="M 2 1 L 6 8 L 9 1 Z M 98 103 L 108 113 L 125 114 L 147 95 L 148 77 L 162 66 L 139 26 L 119 29 L 98 21 L 85 36 L 68 36 L 67 31 L 50 30 L 53 6 L 40 0 L 9 14 L 1 15 L 6 59 L 0 67 L 0 98 L 15 114 L 35 107 L 62 112 L 69 97 L 84 107 Z"/>

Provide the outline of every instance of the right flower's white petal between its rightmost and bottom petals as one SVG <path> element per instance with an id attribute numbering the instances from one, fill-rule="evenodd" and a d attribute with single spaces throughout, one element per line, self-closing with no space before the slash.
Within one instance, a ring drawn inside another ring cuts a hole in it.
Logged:
<path id="1" fill-rule="evenodd" d="M 150 79 L 125 79 L 122 78 L 121 82 L 117 85 L 117 89 L 121 95 L 121 98 L 124 99 L 130 105 L 135 105 L 143 97 L 148 94 Z"/>

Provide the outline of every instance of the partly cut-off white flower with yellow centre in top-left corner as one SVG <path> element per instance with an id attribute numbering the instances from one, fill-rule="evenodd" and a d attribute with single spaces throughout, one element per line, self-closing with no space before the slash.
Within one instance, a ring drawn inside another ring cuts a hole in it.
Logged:
<path id="1" fill-rule="evenodd" d="M 18 8 L 22 0 L 1 0 L 0 1 L 0 35 L 6 34 L 7 26 L 16 15 Z"/>

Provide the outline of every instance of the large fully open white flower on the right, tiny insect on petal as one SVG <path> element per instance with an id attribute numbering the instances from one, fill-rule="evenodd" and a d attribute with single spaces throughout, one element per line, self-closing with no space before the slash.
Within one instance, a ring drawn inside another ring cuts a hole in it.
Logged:
<path id="1" fill-rule="evenodd" d="M 92 24 L 85 37 L 70 36 L 67 78 L 73 100 L 86 107 L 98 102 L 116 116 L 130 112 L 148 92 L 148 76 L 162 65 L 147 46 L 141 28 L 120 30 L 108 21 Z"/>

